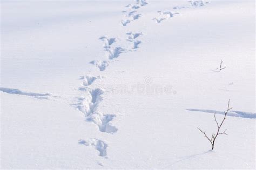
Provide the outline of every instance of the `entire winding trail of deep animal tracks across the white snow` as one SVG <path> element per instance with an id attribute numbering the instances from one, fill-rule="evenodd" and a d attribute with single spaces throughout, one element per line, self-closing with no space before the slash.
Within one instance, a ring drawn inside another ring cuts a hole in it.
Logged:
<path id="1" fill-rule="evenodd" d="M 203 1 L 189 1 L 191 6 L 198 7 L 204 6 L 208 2 Z M 136 21 L 142 14 L 138 13 L 138 10 L 148 3 L 145 0 L 136 0 L 134 4 L 126 5 L 127 10 L 122 11 L 124 19 L 120 22 L 122 26 L 131 24 Z M 174 6 L 173 10 L 179 10 L 188 8 L 187 6 Z M 170 11 L 158 11 L 159 17 L 153 18 L 156 23 L 160 23 L 165 19 L 172 18 L 179 14 L 179 12 Z M 136 51 L 139 48 L 139 44 L 142 43 L 140 37 L 143 36 L 142 32 L 126 32 L 126 40 L 130 42 L 130 48 L 118 45 L 118 38 L 103 36 L 99 40 L 103 42 L 103 48 L 105 51 L 105 60 L 93 60 L 90 63 L 95 65 L 99 71 L 105 71 L 111 62 L 115 62 L 122 53 L 129 51 Z M 116 114 L 104 113 L 99 110 L 99 106 L 104 100 L 104 90 L 100 88 L 91 88 L 91 85 L 95 81 L 100 81 L 103 76 L 81 76 L 82 85 L 78 88 L 80 96 L 76 99 L 76 108 L 83 112 L 87 121 L 95 124 L 100 132 L 114 134 L 118 131 L 118 128 L 112 124 L 112 120 L 117 116 Z M 91 146 L 98 151 L 100 157 L 107 158 L 107 143 L 102 139 L 80 139 L 78 144 Z"/>

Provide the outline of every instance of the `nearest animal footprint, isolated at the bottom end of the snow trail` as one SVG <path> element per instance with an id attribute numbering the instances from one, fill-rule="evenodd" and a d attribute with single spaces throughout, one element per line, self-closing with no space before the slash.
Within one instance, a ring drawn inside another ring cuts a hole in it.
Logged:
<path id="1" fill-rule="evenodd" d="M 99 139 L 78 140 L 78 144 L 91 146 L 99 152 L 100 157 L 107 157 L 107 144 Z"/>

